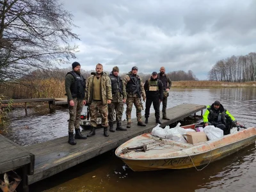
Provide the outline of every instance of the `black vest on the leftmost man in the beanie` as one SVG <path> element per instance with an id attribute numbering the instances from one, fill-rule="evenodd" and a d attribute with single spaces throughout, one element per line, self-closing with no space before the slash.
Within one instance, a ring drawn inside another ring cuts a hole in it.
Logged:
<path id="1" fill-rule="evenodd" d="M 85 81 L 84 77 L 82 75 L 78 75 L 73 70 L 68 72 L 67 74 L 72 74 L 72 76 L 75 78 L 75 82 L 71 84 L 70 86 L 70 92 L 73 98 L 84 98 L 84 91 L 85 91 Z M 67 76 L 67 75 L 66 75 Z"/>

